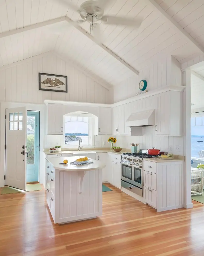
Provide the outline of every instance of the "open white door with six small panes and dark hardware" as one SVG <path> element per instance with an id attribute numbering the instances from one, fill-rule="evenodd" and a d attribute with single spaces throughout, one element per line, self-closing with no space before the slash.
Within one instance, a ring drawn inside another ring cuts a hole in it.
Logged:
<path id="1" fill-rule="evenodd" d="M 6 109 L 5 185 L 26 190 L 26 107 Z"/>

